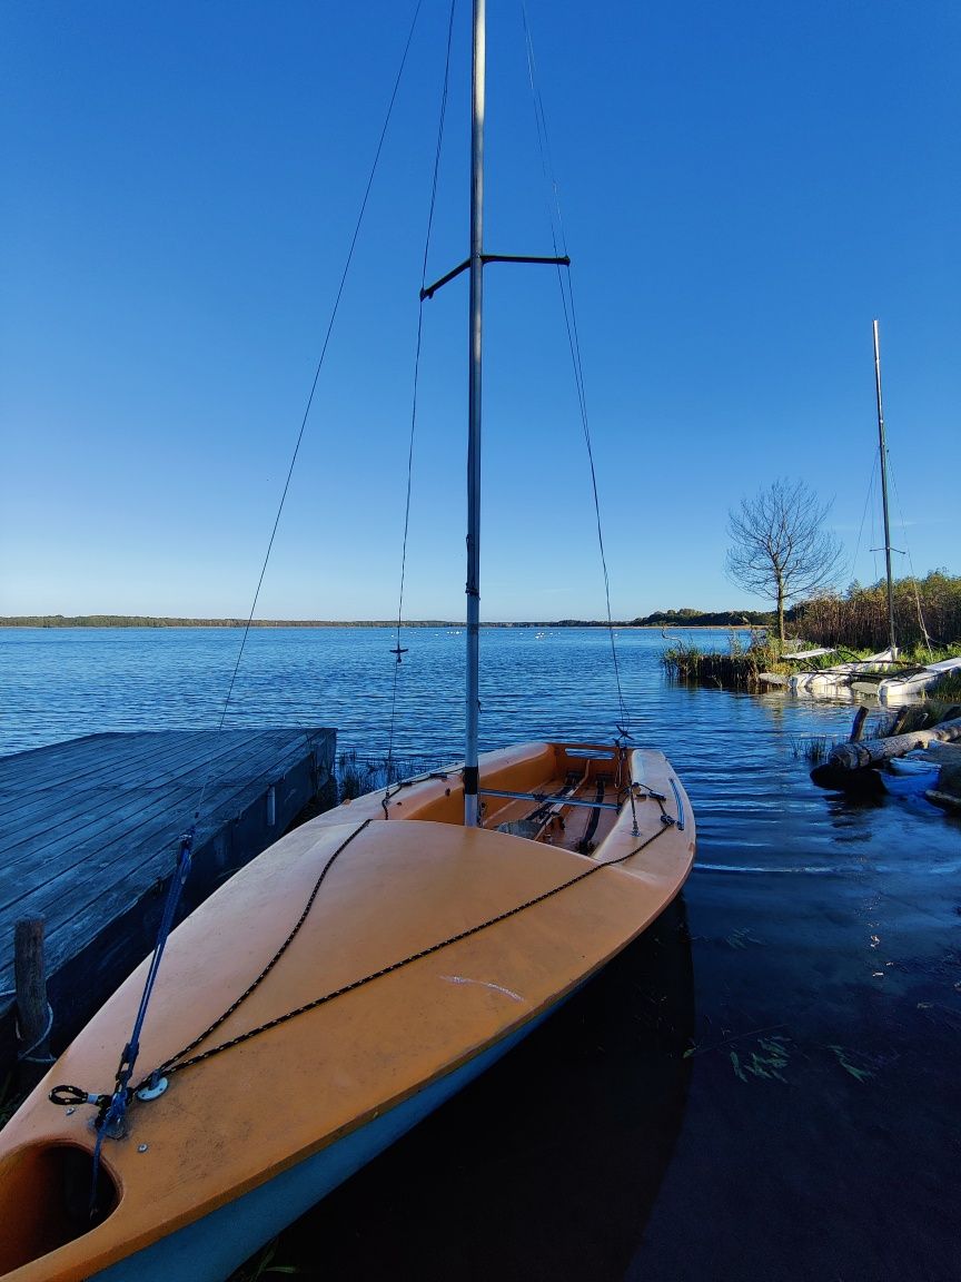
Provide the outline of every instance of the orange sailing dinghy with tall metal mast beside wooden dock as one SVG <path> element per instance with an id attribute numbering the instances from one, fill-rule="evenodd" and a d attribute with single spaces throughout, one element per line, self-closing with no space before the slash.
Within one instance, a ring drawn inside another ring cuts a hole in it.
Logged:
<path id="1" fill-rule="evenodd" d="M 304 824 L 159 942 L 0 1132 L 6 1282 L 226 1277 L 530 1033 L 691 869 L 662 754 L 623 735 L 477 753 L 483 60 L 475 0 L 465 762 Z"/>

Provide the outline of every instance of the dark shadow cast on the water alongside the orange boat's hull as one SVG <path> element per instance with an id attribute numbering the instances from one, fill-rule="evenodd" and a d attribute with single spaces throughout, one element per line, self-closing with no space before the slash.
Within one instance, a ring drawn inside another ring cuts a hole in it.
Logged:
<path id="1" fill-rule="evenodd" d="M 670 1163 L 694 1028 L 683 901 L 491 1072 L 314 1208 L 324 1278 L 621 1278 Z"/>

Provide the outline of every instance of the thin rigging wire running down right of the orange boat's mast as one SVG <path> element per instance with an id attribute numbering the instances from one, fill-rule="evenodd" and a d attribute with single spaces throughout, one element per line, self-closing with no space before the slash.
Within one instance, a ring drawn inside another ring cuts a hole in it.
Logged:
<path id="1" fill-rule="evenodd" d="M 550 138 L 547 132 L 547 114 L 545 112 L 543 96 L 541 94 L 537 82 L 537 62 L 534 59 L 534 46 L 530 35 L 530 24 L 528 22 L 525 0 L 520 0 L 520 14 L 524 26 L 524 44 L 527 47 L 528 78 L 530 81 L 530 92 L 534 105 L 534 121 L 537 124 L 537 142 L 541 150 L 541 168 L 545 179 L 547 182 L 548 191 L 551 194 L 547 205 L 548 205 L 548 218 L 551 224 L 551 240 L 554 242 L 554 255 L 555 258 L 561 258 L 561 256 L 568 258 L 568 244 L 564 232 L 564 219 L 561 217 L 561 208 L 560 208 L 560 192 L 557 188 L 557 181 L 554 176 L 554 164 L 551 160 Z M 584 367 L 580 358 L 580 338 L 578 335 L 577 309 L 574 306 L 574 274 L 570 264 L 568 264 L 566 269 L 561 265 L 557 267 L 557 285 L 560 287 L 561 305 L 564 308 L 564 323 L 568 331 L 568 344 L 570 347 L 570 359 L 574 370 L 574 385 L 577 387 L 578 405 L 580 409 L 580 426 L 584 433 L 584 444 L 587 445 L 587 459 L 591 470 L 591 488 L 593 494 L 595 518 L 597 524 L 597 545 L 601 554 L 604 595 L 607 610 L 607 635 L 610 637 L 610 644 L 611 644 L 614 681 L 618 690 L 618 709 L 620 714 L 618 731 L 625 738 L 630 738 L 630 715 L 624 703 L 624 691 L 620 681 L 620 664 L 618 660 L 618 646 L 614 636 L 614 619 L 611 615 L 610 576 L 607 573 L 607 556 L 604 546 L 601 501 L 597 492 L 597 472 L 595 468 L 593 446 L 591 442 L 591 428 L 588 424 L 588 415 L 587 415 L 587 390 L 584 385 Z"/>

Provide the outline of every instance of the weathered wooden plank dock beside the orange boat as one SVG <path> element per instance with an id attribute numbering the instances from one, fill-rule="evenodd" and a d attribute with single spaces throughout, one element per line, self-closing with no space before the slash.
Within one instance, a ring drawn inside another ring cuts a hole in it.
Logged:
<path id="1" fill-rule="evenodd" d="M 200 804 L 178 919 L 333 800 L 333 729 L 90 735 L 0 756 L 0 1085 L 15 1061 L 14 927 L 46 924 L 54 1051 L 154 947 Z"/>

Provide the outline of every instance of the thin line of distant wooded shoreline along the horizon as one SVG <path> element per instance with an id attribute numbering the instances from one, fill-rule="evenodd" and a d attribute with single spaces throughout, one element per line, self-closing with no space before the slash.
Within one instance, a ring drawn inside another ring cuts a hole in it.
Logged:
<path id="1" fill-rule="evenodd" d="M 484 622 L 482 628 L 606 628 L 605 619 L 543 619 L 524 622 Z M 769 627 L 769 620 L 747 622 L 739 617 L 737 622 L 723 615 L 694 615 L 691 619 L 659 618 L 615 620 L 615 628 L 648 628 L 656 631 L 694 628 L 757 628 Z M 36 614 L 10 615 L 0 618 L 0 628 L 246 628 L 246 619 L 181 619 L 152 618 L 147 615 L 126 614 Z M 251 628 L 396 628 L 396 619 L 252 619 Z M 404 628 L 457 628 L 466 624 L 459 619 L 404 619 Z"/>

